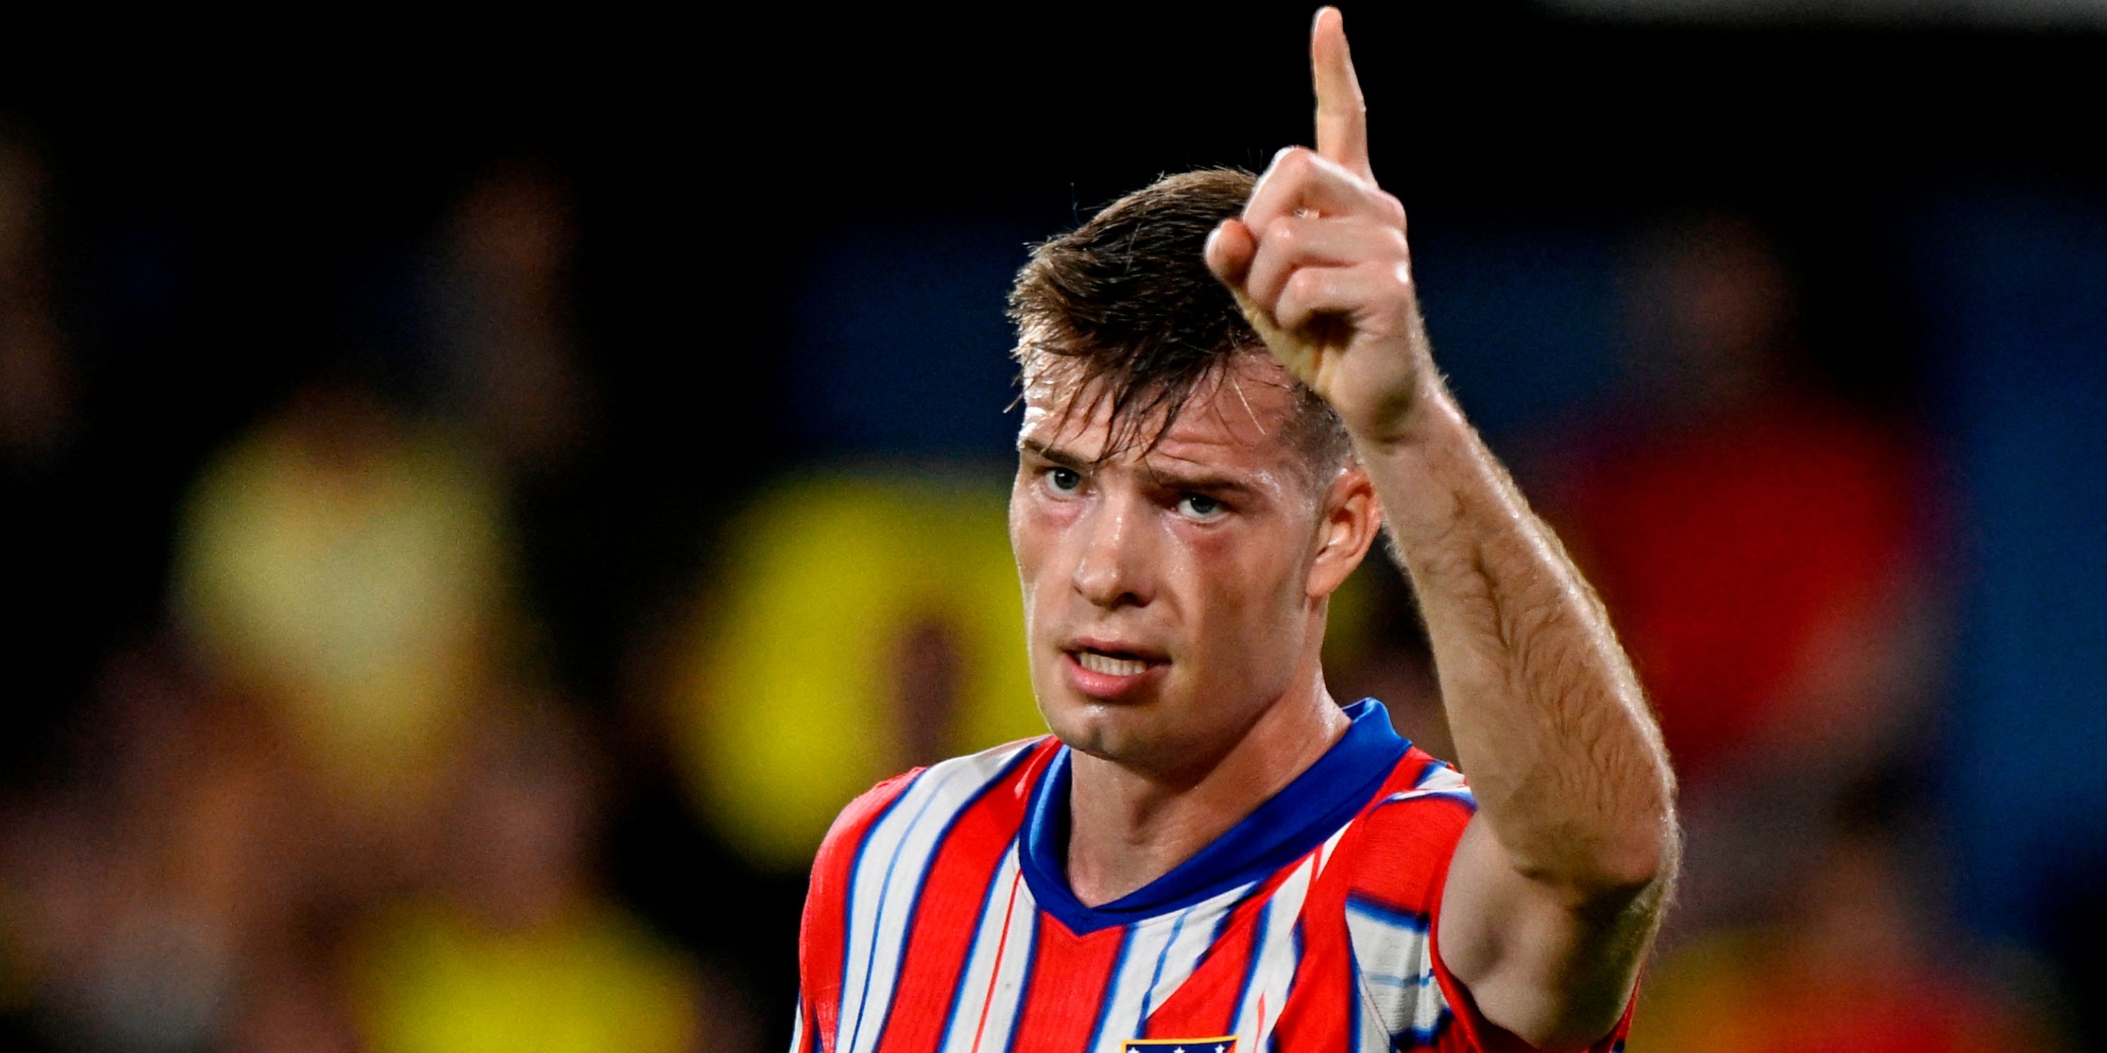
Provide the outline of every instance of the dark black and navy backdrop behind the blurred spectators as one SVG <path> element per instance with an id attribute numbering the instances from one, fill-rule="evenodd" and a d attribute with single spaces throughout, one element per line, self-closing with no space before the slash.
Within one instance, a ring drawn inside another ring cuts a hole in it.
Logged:
<path id="1" fill-rule="evenodd" d="M 2073 11 L 1346 11 L 1437 356 L 1525 482 L 1555 486 L 1540 451 L 1610 413 L 1618 261 L 1698 211 L 1749 217 L 1795 276 L 1791 373 L 1919 455 L 1947 630 L 1915 674 L 1907 762 L 1854 792 L 1909 830 L 1934 889 L 1926 958 L 1997 962 L 1962 984 L 2025 1019 L 2000 1049 L 2103 1040 L 2069 992 L 2101 975 L 2080 933 L 2103 916 L 2086 861 L 2107 859 L 2107 36 Z M 99 699 L 120 655 L 183 651 L 156 640 L 181 638 L 177 522 L 217 451 L 316 383 L 453 413 L 421 282 L 464 196 L 533 173 L 571 217 L 586 409 L 560 457 L 510 476 L 506 516 L 529 663 L 613 758 L 586 870 L 700 962 L 700 998 L 748 1021 L 725 1036 L 782 1047 L 803 878 L 742 855 L 683 790 L 653 716 L 668 625 L 788 472 L 942 463 L 999 486 L 1001 297 L 1024 244 L 1159 173 L 1256 171 L 1306 141 L 1306 25 L 1285 4 L 748 8 L 681 32 L 594 13 L 421 46 L 310 25 L 261 48 L 29 57 L 0 88 L 0 145 L 42 173 L 36 310 L 72 383 L 63 425 L 8 446 L 6 815 L 29 830 L 114 764 L 120 748 L 82 741 L 114 735 Z M 34 76 L 46 61 L 63 72 Z M 316 908 L 320 931 L 400 895 Z M 327 962 L 320 943 L 301 954 Z M 101 1032 L 61 967 L 17 958 L 0 1011 L 21 1040 L 122 1047 L 82 1038 Z"/>

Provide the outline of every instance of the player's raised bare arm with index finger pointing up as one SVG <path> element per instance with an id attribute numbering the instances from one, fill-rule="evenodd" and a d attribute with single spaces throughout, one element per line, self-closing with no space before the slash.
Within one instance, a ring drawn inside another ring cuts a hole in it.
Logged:
<path id="1" fill-rule="evenodd" d="M 1311 61 L 1317 150 L 1275 156 L 1207 263 L 1338 409 L 1418 592 L 1479 800 L 1435 922 L 1441 960 L 1492 1024 L 1580 1049 L 1616 1024 L 1660 925 L 1675 779 L 1601 602 L 1433 366 L 1334 8 Z"/>

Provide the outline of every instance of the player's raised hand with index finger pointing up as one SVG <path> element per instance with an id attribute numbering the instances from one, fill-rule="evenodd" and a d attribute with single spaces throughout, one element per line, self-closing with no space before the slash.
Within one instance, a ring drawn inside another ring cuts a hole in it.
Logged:
<path id="1" fill-rule="evenodd" d="M 1207 267 L 1266 347 L 1361 442 L 1407 440 L 1439 388 L 1412 286 L 1405 206 L 1367 166 L 1367 105 L 1344 19 L 1311 29 L 1317 150 L 1281 150 L 1241 219 L 1207 236 Z"/>

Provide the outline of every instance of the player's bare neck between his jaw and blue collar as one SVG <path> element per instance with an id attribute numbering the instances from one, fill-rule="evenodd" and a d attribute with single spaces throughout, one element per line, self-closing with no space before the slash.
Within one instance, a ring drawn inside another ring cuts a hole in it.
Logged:
<path id="1" fill-rule="evenodd" d="M 1212 764 L 1176 777 L 1072 752 L 1068 887 L 1104 906 L 1169 874 L 1302 775 L 1346 733 L 1321 672 L 1281 695 Z"/>

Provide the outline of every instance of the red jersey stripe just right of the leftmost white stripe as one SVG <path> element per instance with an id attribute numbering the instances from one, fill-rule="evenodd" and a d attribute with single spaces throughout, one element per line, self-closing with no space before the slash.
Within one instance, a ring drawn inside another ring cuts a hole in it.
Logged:
<path id="1" fill-rule="evenodd" d="M 1030 788 L 1058 750 L 1054 739 L 1039 746 L 1037 756 L 1005 777 L 1003 786 L 990 788 L 965 809 L 936 847 L 914 906 L 914 931 L 908 933 L 900 960 L 900 984 L 893 988 L 879 1053 L 921 1053 L 944 1038 L 959 973 L 965 971 L 980 929 L 982 901 L 995 897 L 988 887 L 1024 823 Z"/>

